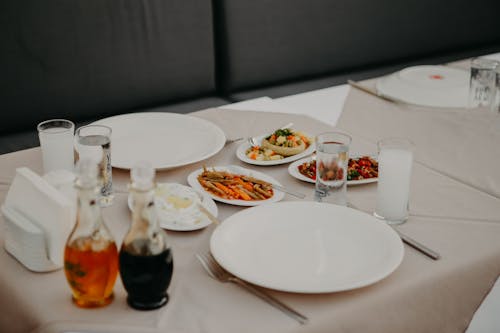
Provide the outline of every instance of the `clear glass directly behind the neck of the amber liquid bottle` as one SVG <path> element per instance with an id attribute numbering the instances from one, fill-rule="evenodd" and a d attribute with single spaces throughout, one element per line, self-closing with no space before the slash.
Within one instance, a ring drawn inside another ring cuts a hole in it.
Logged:
<path id="1" fill-rule="evenodd" d="M 111 168 L 111 128 L 104 125 L 87 125 L 76 130 L 75 150 L 77 159 L 90 159 L 99 166 L 101 180 L 101 206 L 113 202 Z"/>

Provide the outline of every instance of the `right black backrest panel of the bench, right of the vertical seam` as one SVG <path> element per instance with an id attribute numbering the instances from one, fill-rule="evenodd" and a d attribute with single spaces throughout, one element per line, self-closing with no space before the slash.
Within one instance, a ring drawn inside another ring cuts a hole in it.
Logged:
<path id="1" fill-rule="evenodd" d="M 226 92 L 500 45 L 499 0 L 214 0 Z"/>

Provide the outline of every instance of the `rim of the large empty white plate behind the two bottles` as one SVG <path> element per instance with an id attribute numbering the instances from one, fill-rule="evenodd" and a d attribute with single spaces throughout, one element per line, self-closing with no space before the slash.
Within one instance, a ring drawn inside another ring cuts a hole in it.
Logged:
<path id="1" fill-rule="evenodd" d="M 213 122 L 211 122 L 207 119 L 204 119 L 204 118 L 195 117 L 195 116 L 191 116 L 191 115 L 187 115 L 187 114 L 175 113 L 175 112 L 155 112 L 155 111 L 152 111 L 152 112 L 123 113 L 123 114 L 119 114 L 119 115 L 96 120 L 96 121 L 90 123 L 89 125 L 105 125 L 105 126 L 111 127 L 111 129 L 113 129 L 111 124 L 109 124 L 110 121 L 113 122 L 113 121 L 116 121 L 117 119 L 126 119 L 126 118 L 131 118 L 133 120 L 134 118 L 142 118 L 142 117 L 148 117 L 148 116 L 162 116 L 162 117 L 166 117 L 166 118 L 170 118 L 170 119 L 172 119 L 172 118 L 192 119 L 192 120 L 197 121 L 199 123 L 205 124 L 205 126 L 207 126 L 207 127 L 210 127 L 213 130 L 213 133 L 216 136 L 216 140 L 217 140 L 217 142 L 216 142 L 217 144 L 214 145 L 214 148 L 211 151 L 203 154 L 201 157 L 198 157 L 197 159 L 193 159 L 193 160 L 188 161 L 188 162 L 175 163 L 175 164 L 161 163 L 161 164 L 155 165 L 153 163 L 153 168 L 155 168 L 156 170 L 169 170 L 169 169 L 178 168 L 181 166 L 186 166 L 186 165 L 190 165 L 193 163 L 197 163 L 197 162 L 206 160 L 206 159 L 214 156 L 215 154 L 217 154 L 219 151 L 221 151 L 221 149 L 224 148 L 224 145 L 226 143 L 226 135 L 225 135 L 224 131 L 219 126 L 214 124 Z M 111 134 L 111 135 L 113 135 L 113 134 Z M 112 139 L 111 139 L 111 166 L 113 168 L 117 168 L 117 169 L 131 170 L 133 168 L 133 163 L 129 162 L 129 163 L 116 164 L 116 162 L 114 162 L 114 159 L 113 159 L 113 145 L 114 144 L 116 144 L 115 139 L 112 137 Z"/>

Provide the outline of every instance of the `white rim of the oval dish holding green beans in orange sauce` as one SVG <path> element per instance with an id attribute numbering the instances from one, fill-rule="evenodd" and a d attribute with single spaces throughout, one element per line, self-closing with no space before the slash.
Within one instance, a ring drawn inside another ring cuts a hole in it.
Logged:
<path id="1" fill-rule="evenodd" d="M 216 171 L 226 171 L 226 172 L 230 172 L 230 173 L 237 174 L 237 175 L 250 176 L 250 177 L 254 177 L 254 178 L 266 181 L 266 182 L 271 183 L 271 184 L 281 185 L 276 179 L 274 179 L 271 176 L 268 176 L 262 172 L 242 168 L 242 167 L 237 166 L 237 165 L 216 166 L 216 167 L 210 167 L 209 169 L 215 169 Z M 191 172 L 188 176 L 188 179 L 187 179 L 188 184 L 191 187 L 193 187 L 194 189 L 208 193 L 208 195 L 210 195 L 210 197 L 212 199 L 219 201 L 219 202 L 224 202 L 227 204 L 237 205 L 237 206 L 257 206 L 257 205 L 268 204 L 271 202 L 280 201 L 285 196 L 285 194 L 283 192 L 278 191 L 276 189 L 273 189 L 273 196 L 270 197 L 269 199 L 266 199 L 266 200 L 246 201 L 246 200 L 224 199 L 224 198 L 221 198 L 215 194 L 212 194 L 210 192 L 205 191 L 203 186 L 201 186 L 200 182 L 198 181 L 198 175 L 201 174 L 202 172 L 203 172 L 203 169 L 198 169 L 196 171 Z"/>

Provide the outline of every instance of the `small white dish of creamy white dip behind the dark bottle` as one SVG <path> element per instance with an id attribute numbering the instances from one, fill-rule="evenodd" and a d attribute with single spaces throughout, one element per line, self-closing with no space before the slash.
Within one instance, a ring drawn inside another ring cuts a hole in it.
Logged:
<path id="1" fill-rule="evenodd" d="M 174 231 L 192 231 L 205 228 L 211 221 L 198 208 L 202 204 L 213 216 L 218 209 L 210 196 L 189 186 L 177 183 L 158 183 L 155 191 L 155 206 L 162 228 Z M 128 197 L 132 210 L 132 196 Z"/>

